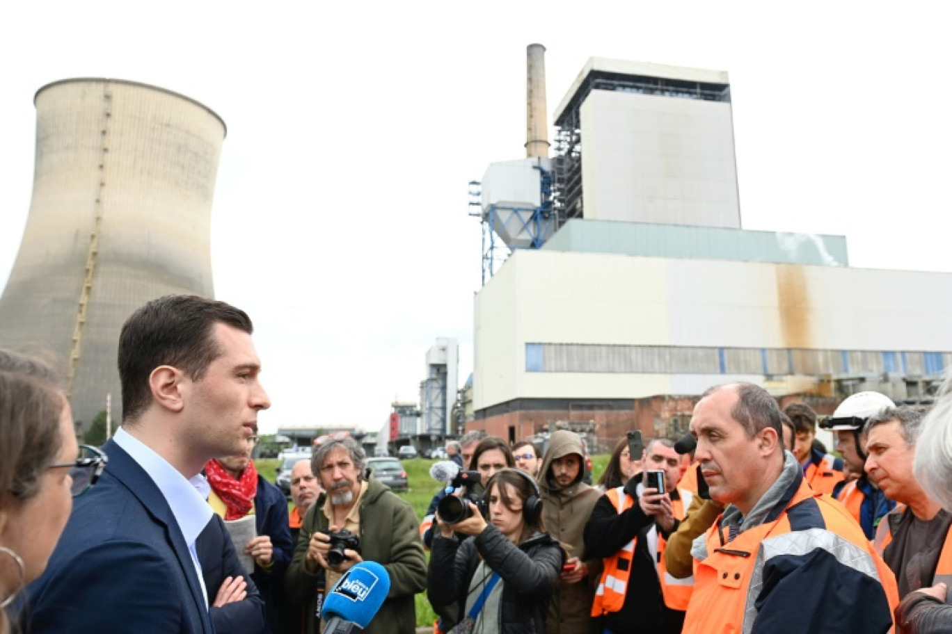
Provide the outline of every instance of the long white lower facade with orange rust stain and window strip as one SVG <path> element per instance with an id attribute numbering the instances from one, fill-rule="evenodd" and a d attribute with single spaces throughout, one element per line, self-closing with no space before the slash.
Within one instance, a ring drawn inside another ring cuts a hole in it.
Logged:
<path id="1" fill-rule="evenodd" d="M 517 251 L 476 297 L 473 407 L 941 374 L 952 297 L 937 289 L 950 286 L 944 273 Z"/>

